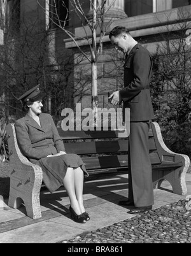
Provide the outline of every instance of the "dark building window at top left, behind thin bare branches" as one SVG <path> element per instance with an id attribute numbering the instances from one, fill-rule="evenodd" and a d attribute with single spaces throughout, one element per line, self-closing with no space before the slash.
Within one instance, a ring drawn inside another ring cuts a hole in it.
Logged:
<path id="1" fill-rule="evenodd" d="M 59 22 L 62 26 L 69 25 L 68 10 L 69 0 L 50 0 L 50 29 L 56 28 Z"/>

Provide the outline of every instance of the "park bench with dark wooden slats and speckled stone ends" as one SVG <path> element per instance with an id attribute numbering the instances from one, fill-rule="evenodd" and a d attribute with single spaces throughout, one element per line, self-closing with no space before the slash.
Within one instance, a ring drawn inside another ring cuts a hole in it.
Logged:
<path id="1" fill-rule="evenodd" d="M 8 205 L 19 208 L 24 202 L 27 215 L 41 218 L 39 194 L 43 182 L 41 167 L 32 164 L 22 155 L 17 144 L 14 124 L 6 127 L 10 150 L 10 197 Z M 90 173 L 125 173 L 128 171 L 127 139 L 119 138 L 120 131 L 62 131 L 67 153 L 81 155 Z M 159 188 L 163 180 L 169 181 L 173 193 L 186 195 L 185 175 L 190 159 L 187 155 L 171 152 L 164 144 L 159 124 L 152 123 L 149 133 L 150 159 L 153 170 L 153 188 Z"/>

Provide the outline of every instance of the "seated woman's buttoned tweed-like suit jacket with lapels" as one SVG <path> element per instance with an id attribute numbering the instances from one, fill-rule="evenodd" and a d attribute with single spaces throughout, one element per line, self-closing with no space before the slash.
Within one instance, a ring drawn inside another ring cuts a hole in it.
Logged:
<path id="1" fill-rule="evenodd" d="M 51 115 L 39 115 L 41 126 L 32 117 L 26 115 L 15 122 L 18 145 L 26 157 L 33 163 L 38 160 L 65 151 Z"/>

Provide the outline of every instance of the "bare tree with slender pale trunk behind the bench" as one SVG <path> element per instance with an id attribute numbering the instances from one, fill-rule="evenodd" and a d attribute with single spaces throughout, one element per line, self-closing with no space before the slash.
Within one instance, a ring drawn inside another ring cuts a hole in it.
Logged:
<path id="1" fill-rule="evenodd" d="M 94 111 L 94 114 L 97 113 L 97 106 L 98 106 L 98 97 L 97 97 L 97 61 L 99 56 L 103 52 L 103 39 L 106 34 L 107 27 L 110 25 L 110 22 L 105 22 L 105 15 L 107 11 L 110 10 L 113 3 L 115 3 L 116 0 L 113 0 L 113 2 L 106 8 L 106 0 L 90 0 L 90 4 L 92 6 L 92 20 L 89 20 L 87 17 L 87 14 L 83 10 L 83 4 L 80 3 L 78 0 L 71 0 L 69 1 L 71 4 L 71 10 L 67 8 L 64 1 L 62 1 L 63 6 L 66 8 L 66 17 L 64 20 L 60 20 L 59 17 L 59 10 L 57 6 L 57 1 L 52 0 L 51 3 L 47 3 L 43 5 L 40 0 L 38 0 L 38 3 L 40 6 L 45 10 L 46 13 L 48 13 L 49 18 L 51 22 L 62 31 L 64 31 L 69 38 L 73 40 L 73 42 L 76 45 L 76 48 L 80 51 L 81 55 L 83 55 L 88 62 L 91 64 L 92 67 L 92 109 Z M 81 26 L 84 29 L 85 36 L 78 36 L 74 34 L 73 31 L 70 31 L 66 27 L 66 22 L 69 17 L 69 12 L 74 12 L 76 14 L 76 17 L 79 18 L 81 22 Z M 89 32 L 90 31 L 90 34 Z M 99 37 L 97 37 L 97 34 L 99 34 Z M 78 44 L 78 40 L 83 40 L 86 42 L 86 45 L 89 47 L 90 55 L 83 50 L 83 47 L 81 47 Z"/>

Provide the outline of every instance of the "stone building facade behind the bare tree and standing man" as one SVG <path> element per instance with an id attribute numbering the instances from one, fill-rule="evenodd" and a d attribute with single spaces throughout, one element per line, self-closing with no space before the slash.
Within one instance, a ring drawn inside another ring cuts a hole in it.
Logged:
<path id="1" fill-rule="evenodd" d="M 98 1 L 101 3 L 101 0 Z M 65 6 L 61 2 L 61 0 L 56 1 L 59 7 L 59 17 L 61 20 L 64 20 L 67 14 L 66 9 L 72 10 L 72 6 L 69 0 L 64 0 Z M 88 20 L 91 21 L 92 5 L 90 2 L 81 1 L 83 3 L 83 10 Z M 106 8 L 112 3 L 113 0 L 107 0 Z M 53 59 L 49 56 L 49 60 L 57 71 L 59 70 L 59 58 L 64 58 L 63 49 L 69 49 L 76 53 L 77 56 L 78 49 L 74 41 L 69 39 L 61 29 L 49 20 L 49 17 L 52 15 L 50 4 L 53 4 L 53 0 L 49 2 L 45 0 L 7 0 L 6 4 L 6 13 L 8 16 L 11 15 L 10 22 L 13 25 L 16 23 L 18 30 L 21 29 L 22 22 L 27 17 L 28 20 L 36 22 L 35 30 L 39 32 L 39 35 L 42 28 L 49 32 L 48 36 L 51 38 L 49 45 L 50 56 L 55 55 Z M 103 39 L 103 54 L 99 57 L 97 63 L 100 108 L 108 106 L 108 91 L 117 90 L 123 86 L 122 64 L 124 56 L 118 55 L 111 47 L 108 32 L 116 25 L 124 25 L 128 27 L 132 36 L 137 41 L 143 43 L 155 55 L 157 43 L 162 41 L 162 34 L 165 34 L 167 31 L 176 31 L 174 24 L 178 23 L 181 13 L 183 13 L 185 19 L 191 20 L 188 15 L 191 13 L 190 4 L 189 0 L 116 0 L 113 3 L 106 12 L 105 20 L 109 26 Z M 81 27 L 81 22 L 74 15 L 74 12 L 69 12 L 66 28 L 68 31 L 73 32 L 78 45 L 88 53 L 88 44 L 81 38 L 85 38 L 87 35 L 91 37 L 91 32 L 88 27 L 85 27 L 85 30 L 84 27 Z M 99 38 L 99 32 L 97 32 L 97 38 Z M 84 77 L 80 76 L 79 78 L 79 74 L 84 75 Z M 82 108 L 91 106 L 91 84 L 88 82 L 90 75 L 90 63 L 87 60 L 82 60 L 78 66 L 74 66 L 74 87 L 79 86 L 79 90 L 81 90 L 81 97 L 78 94 L 75 101 L 80 101 Z M 82 88 L 83 84 L 85 86 Z"/>

